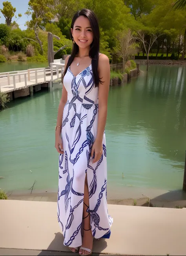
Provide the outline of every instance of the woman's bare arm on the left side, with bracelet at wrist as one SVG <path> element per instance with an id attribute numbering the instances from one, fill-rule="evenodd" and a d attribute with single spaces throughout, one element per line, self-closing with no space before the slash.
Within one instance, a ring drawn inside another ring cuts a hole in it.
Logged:
<path id="1" fill-rule="evenodd" d="M 65 60 L 64 70 L 66 69 L 68 59 L 69 59 L 69 56 L 67 56 Z M 58 127 L 58 126 L 62 126 L 63 110 L 66 102 L 67 102 L 67 91 L 65 86 L 63 85 L 62 97 L 60 99 L 59 107 L 58 107 L 57 124 L 56 124 L 57 128 L 55 132 L 55 148 L 57 149 L 57 152 L 60 154 L 64 154 L 64 151 L 63 151 L 63 142 L 61 138 L 62 127 Z"/>

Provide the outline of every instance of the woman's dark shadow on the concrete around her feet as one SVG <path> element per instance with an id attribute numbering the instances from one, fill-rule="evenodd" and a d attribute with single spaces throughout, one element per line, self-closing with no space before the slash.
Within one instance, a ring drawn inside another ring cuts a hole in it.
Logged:
<path id="1" fill-rule="evenodd" d="M 40 256 L 50 256 L 50 255 L 79 255 L 78 253 L 72 253 L 67 247 L 63 245 L 64 236 L 62 233 L 55 233 L 54 240 L 50 243 L 46 251 L 41 251 L 38 255 Z M 107 247 L 107 242 L 105 239 L 94 240 L 93 253 L 92 255 L 102 255 L 102 252 Z M 64 248 L 64 249 L 63 249 Z"/>

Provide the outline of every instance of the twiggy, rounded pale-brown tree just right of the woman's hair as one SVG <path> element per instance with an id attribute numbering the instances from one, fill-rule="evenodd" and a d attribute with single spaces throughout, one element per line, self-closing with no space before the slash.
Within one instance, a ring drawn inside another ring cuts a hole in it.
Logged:
<path id="1" fill-rule="evenodd" d="M 123 73 L 126 60 L 129 56 L 137 52 L 137 44 L 135 44 L 135 38 L 132 35 L 130 29 L 121 31 L 117 37 L 117 46 L 115 47 L 115 53 L 122 58 Z"/>

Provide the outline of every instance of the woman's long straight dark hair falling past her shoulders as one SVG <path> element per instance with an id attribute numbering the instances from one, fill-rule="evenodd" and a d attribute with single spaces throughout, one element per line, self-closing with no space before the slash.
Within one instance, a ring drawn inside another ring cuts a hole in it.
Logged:
<path id="1" fill-rule="evenodd" d="M 93 32 L 93 42 L 90 45 L 89 57 L 92 59 L 91 63 L 92 63 L 93 78 L 94 78 L 95 86 L 97 87 L 99 85 L 99 82 L 101 82 L 101 80 L 99 78 L 99 74 L 98 74 L 98 57 L 99 57 L 99 45 L 100 45 L 100 31 L 99 31 L 98 20 L 93 11 L 91 11 L 89 9 L 82 9 L 81 11 L 77 11 L 77 13 L 74 15 L 74 17 L 72 19 L 72 23 L 71 23 L 72 29 L 74 27 L 75 21 L 80 16 L 84 16 L 89 19 L 89 22 L 91 24 L 91 29 Z M 70 33 L 71 33 L 71 31 L 70 31 Z M 72 33 L 71 33 L 71 39 L 73 40 Z M 69 57 L 66 69 L 63 73 L 62 81 L 67 72 L 67 69 L 73 62 L 78 51 L 79 51 L 79 46 L 76 43 L 73 44 L 72 53 Z"/>

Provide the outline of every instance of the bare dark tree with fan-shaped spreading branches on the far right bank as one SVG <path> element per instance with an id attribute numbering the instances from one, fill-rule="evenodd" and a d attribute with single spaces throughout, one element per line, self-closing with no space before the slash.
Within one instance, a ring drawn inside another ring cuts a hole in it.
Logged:
<path id="1" fill-rule="evenodd" d="M 142 30 L 138 31 L 137 36 L 135 37 L 135 39 L 141 41 L 144 46 L 144 49 L 147 55 L 147 71 L 149 66 L 150 49 L 158 37 L 160 37 L 160 35 L 150 33 L 148 31 L 142 31 Z"/>

